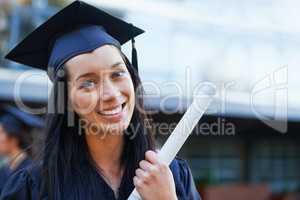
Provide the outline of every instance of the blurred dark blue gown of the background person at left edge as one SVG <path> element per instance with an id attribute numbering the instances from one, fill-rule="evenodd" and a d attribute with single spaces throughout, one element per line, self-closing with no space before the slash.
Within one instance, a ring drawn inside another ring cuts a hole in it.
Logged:
<path id="1" fill-rule="evenodd" d="M 15 172 L 24 169 L 32 163 L 31 159 L 25 158 L 14 170 L 10 170 L 8 166 L 4 166 L 0 168 L 0 193 L 8 181 L 8 178 Z"/>

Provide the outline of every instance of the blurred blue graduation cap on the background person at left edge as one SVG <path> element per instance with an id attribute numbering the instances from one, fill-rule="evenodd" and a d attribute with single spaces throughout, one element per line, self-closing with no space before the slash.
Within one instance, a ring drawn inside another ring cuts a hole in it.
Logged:
<path id="1" fill-rule="evenodd" d="M 8 134 L 20 134 L 24 127 L 43 128 L 44 121 L 37 116 L 21 111 L 16 107 L 5 106 L 4 114 L 0 117 L 0 125 Z"/>

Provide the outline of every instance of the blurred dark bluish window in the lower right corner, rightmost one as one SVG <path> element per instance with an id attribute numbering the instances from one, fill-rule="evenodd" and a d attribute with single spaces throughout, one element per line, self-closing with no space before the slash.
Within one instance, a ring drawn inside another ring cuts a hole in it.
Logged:
<path id="1" fill-rule="evenodd" d="M 253 145 L 252 182 L 270 183 L 273 192 L 300 188 L 300 147 L 293 141 L 265 140 Z"/>

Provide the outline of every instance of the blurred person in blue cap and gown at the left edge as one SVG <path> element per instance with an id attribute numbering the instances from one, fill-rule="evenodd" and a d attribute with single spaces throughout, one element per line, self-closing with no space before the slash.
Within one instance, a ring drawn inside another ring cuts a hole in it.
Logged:
<path id="1" fill-rule="evenodd" d="M 0 155 L 5 164 L 0 166 L 0 192 L 9 176 L 31 164 L 31 128 L 42 128 L 43 121 L 15 107 L 6 106 L 0 117 Z"/>

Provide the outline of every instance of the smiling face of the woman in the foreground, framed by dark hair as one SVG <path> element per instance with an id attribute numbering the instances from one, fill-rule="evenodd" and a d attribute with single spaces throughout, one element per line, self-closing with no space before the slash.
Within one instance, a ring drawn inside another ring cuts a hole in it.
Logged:
<path id="1" fill-rule="evenodd" d="M 122 133 L 135 104 L 131 76 L 119 50 L 104 45 L 66 63 L 72 108 L 87 133 Z"/>

